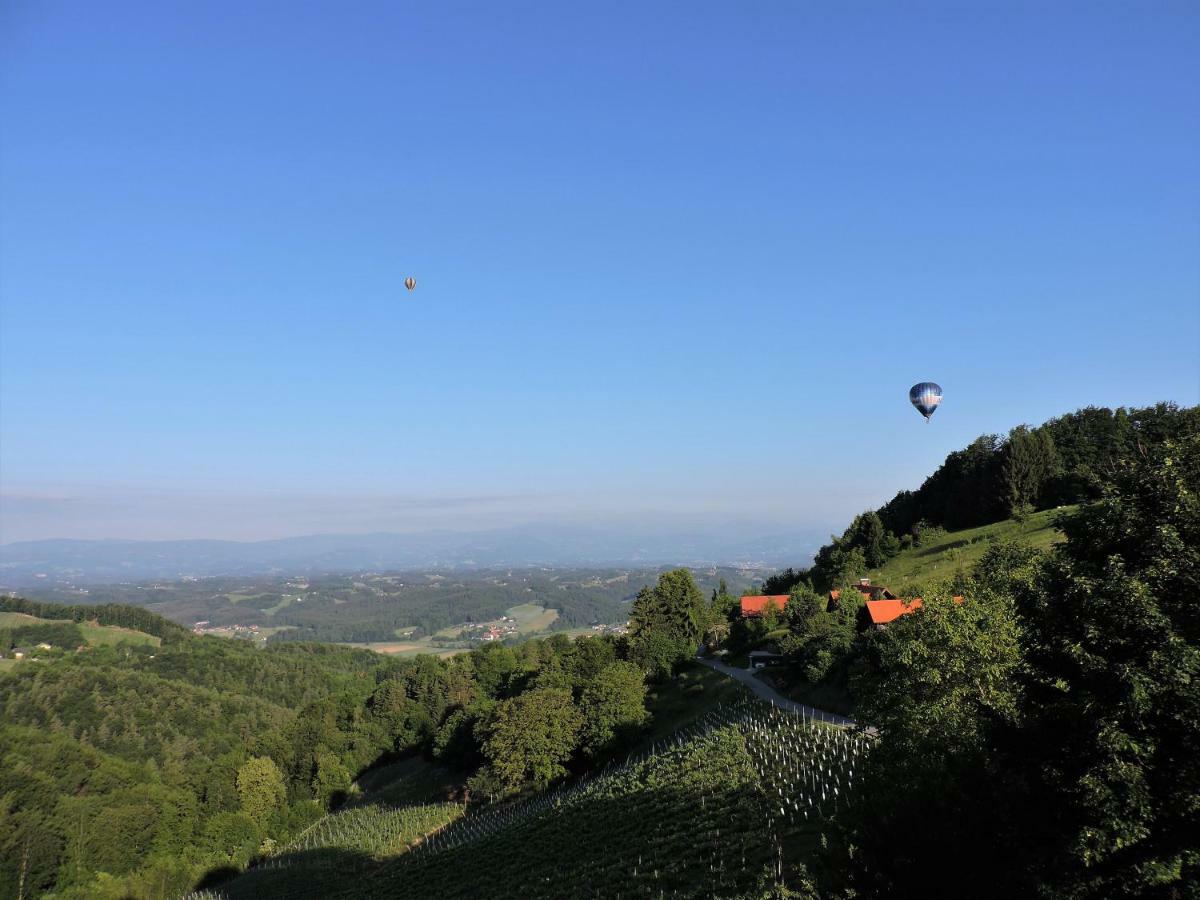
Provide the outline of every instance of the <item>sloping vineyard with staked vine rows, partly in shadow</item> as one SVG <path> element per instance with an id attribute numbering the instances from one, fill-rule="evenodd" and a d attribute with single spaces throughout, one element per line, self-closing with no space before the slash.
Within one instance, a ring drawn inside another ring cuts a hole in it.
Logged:
<path id="1" fill-rule="evenodd" d="M 745 698 L 521 803 L 466 816 L 456 804 L 328 816 L 220 894 L 196 896 L 685 898 L 794 887 L 845 809 L 865 750 L 860 734 Z"/>

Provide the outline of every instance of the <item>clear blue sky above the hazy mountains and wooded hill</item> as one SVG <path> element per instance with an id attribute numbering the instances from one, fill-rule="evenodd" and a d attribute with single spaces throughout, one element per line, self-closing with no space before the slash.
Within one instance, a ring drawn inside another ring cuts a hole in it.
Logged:
<path id="1" fill-rule="evenodd" d="M 982 432 L 1200 401 L 1194 2 L 0 31 L 6 541 L 840 529 Z"/>

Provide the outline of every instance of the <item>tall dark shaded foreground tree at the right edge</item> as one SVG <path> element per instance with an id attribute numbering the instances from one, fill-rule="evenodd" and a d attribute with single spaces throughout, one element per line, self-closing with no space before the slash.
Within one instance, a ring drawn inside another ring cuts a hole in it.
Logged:
<path id="1" fill-rule="evenodd" d="M 1103 491 L 1014 586 L 1031 668 L 1010 760 L 1048 895 L 1166 895 L 1200 881 L 1200 428 Z"/>

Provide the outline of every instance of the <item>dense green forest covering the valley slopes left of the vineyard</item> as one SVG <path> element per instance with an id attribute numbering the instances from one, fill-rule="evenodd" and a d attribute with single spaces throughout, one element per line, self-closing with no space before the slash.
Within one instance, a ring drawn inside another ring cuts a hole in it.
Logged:
<path id="1" fill-rule="evenodd" d="M 179 895 L 413 754 L 461 773 L 481 802 L 601 766 L 647 722 L 647 673 L 670 677 L 698 641 L 707 602 L 686 570 L 637 606 L 659 623 L 672 602 L 688 614 L 661 635 L 557 635 L 451 660 L 257 649 L 109 607 L 176 640 L 23 664 L 0 682 L 0 895 Z"/>

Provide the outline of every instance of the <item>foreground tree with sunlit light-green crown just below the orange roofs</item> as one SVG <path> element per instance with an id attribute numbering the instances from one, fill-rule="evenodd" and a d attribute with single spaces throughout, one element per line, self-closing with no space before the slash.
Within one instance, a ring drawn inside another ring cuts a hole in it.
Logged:
<path id="1" fill-rule="evenodd" d="M 958 896 L 971 881 L 974 896 L 1028 895 L 1002 858 L 1010 773 L 989 754 L 992 724 L 1016 715 L 1019 636 L 1012 600 L 984 592 L 928 595 L 870 634 L 853 679 L 860 721 L 880 731 L 852 808 L 864 894 Z"/>

